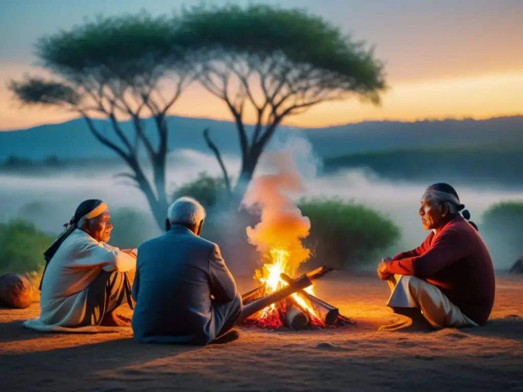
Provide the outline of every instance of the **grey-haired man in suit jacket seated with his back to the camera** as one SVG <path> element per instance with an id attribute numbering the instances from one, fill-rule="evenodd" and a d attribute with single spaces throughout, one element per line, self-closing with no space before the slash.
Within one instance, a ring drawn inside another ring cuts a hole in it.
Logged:
<path id="1" fill-rule="evenodd" d="M 231 328 L 242 297 L 218 245 L 200 237 L 203 206 L 180 198 L 167 215 L 167 232 L 138 248 L 134 338 L 198 345 L 236 339 Z"/>

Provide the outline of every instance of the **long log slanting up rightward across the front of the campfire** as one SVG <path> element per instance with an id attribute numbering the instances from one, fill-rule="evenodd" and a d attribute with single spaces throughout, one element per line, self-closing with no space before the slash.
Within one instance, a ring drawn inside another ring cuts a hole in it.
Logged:
<path id="1" fill-rule="evenodd" d="M 320 267 L 318 269 L 315 269 L 314 271 L 308 272 L 300 276 L 300 278 L 293 280 L 287 286 L 282 287 L 279 290 L 276 290 L 261 298 L 254 299 L 254 301 L 252 301 L 251 303 L 248 303 L 247 305 L 243 306 L 242 312 L 240 313 L 240 317 L 238 317 L 236 323 L 238 324 L 242 321 L 245 321 L 247 317 L 259 312 L 261 309 L 264 309 L 269 305 L 279 302 L 282 299 L 288 297 L 289 295 L 292 295 L 297 291 L 305 289 L 305 287 L 309 287 L 310 285 L 312 285 L 312 281 L 314 279 L 321 278 L 329 271 L 332 270 Z"/>

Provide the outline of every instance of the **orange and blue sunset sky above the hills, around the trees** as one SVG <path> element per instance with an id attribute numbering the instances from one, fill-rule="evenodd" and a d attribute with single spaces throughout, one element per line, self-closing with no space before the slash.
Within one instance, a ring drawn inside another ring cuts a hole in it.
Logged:
<path id="1" fill-rule="evenodd" d="M 6 89 L 31 72 L 33 44 L 83 17 L 169 13 L 200 1 L 17 0 L 0 14 L 0 129 L 62 122 L 71 113 L 21 108 Z M 208 1 L 222 4 L 225 1 Z M 235 3 L 247 3 L 235 2 Z M 361 120 L 488 118 L 523 114 L 523 0 L 286 0 L 376 45 L 391 90 L 380 107 L 349 100 L 324 103 L 287 121 L 325 126 Z M 230 120 L 223 103 L 195 86 L 172 114 Z"/>

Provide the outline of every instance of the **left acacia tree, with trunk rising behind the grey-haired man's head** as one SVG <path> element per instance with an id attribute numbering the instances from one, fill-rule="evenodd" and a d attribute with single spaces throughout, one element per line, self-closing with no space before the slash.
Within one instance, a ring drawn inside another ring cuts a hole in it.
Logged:
<path id="1" fill-rule="evenodd" d="M 194 78 L 192 67 L 173 44 L 177 26 L 176 18 L 143 13 L 99 17 L 37 42 L 36 56 L 50 78 L 26 76 L 10 83 L 23 103 L 57 106 L 83 117 L 96 139 L 131 169 L 121 176 L 141 189 L 161 227 L 168 203 L 166 114 Z M 168 96 L 161 89 L 166 81 L 173 85 Z M 110 135 L 93 121 L 100 116 L 108 120 Z M 154 120 L 156 132 L 146 132 L 146 117 Z M 130 132 L 122 129 L 122 119 L 131 120 Z M 141 163 L 143 149 L 152 176 Z"/>

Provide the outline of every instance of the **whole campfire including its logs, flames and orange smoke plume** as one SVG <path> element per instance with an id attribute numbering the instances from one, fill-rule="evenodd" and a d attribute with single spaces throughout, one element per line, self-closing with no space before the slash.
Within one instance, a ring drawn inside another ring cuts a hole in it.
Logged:
<path id="1" fill-rule="evenodd" d="M 313 281 L 332 269 L 321 267 L 294 279 L 311 252 L 302 240 L 309 236 L 311 222 L 289 197 L 305 190 L 292 154 L 267 154 L 276 173 L 256 177 L 242 204 L 257 213 L 260 221 L 247 227 L 249 243 L 265 262 L 256 270 L 257 289 L 242 296 L 244 310 L 238 321 L 244 325 L 292 329 L 353 324 L 338 309 L 314 295 Z"/>

